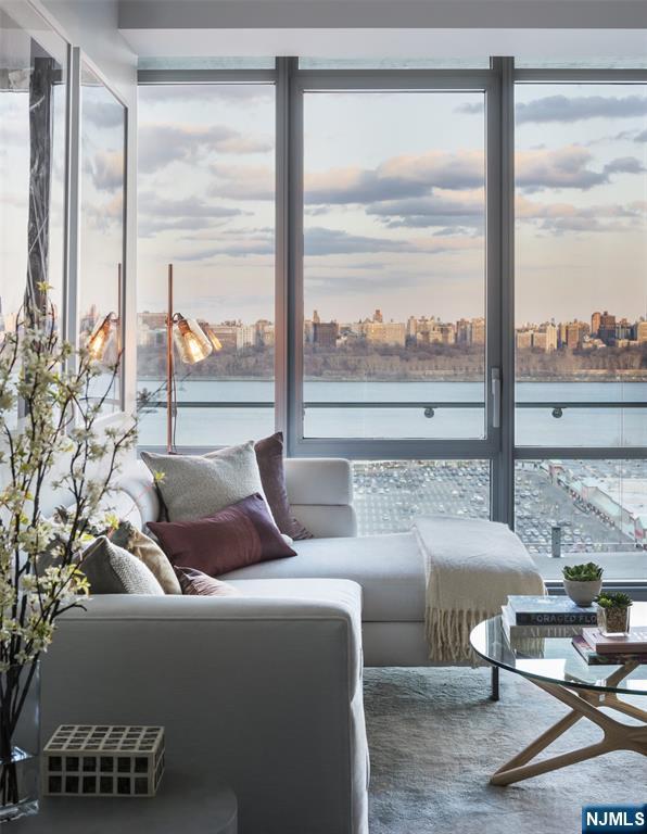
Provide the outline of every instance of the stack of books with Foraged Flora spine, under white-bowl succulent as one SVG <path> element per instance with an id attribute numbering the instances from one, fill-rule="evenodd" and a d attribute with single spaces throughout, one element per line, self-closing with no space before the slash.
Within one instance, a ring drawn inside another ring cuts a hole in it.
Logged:
<path id="1" fill-rule="evenodd" d="M 597 609 L 582 608 L 568 596 L 509 596 L 502 607 L 508 641 L 528 637 L 572 637 L 597 623 Z"/>

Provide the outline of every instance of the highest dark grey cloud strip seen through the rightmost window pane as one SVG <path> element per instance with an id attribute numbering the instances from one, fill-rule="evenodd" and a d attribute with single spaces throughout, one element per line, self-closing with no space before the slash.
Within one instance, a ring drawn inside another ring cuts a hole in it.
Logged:
<path id="1" fill-rule="evenodd" d="M 581 122 L 587 118 L 622 118 L 647 115 L 646 96 L 546 96 L 520 102 L 516 108 L 517 124 L 530 122 Z"/>

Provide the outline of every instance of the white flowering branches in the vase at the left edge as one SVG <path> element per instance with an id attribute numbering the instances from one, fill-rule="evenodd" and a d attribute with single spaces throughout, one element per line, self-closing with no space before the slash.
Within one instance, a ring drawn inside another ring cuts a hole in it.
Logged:
<path id="1" fill-rule="evenodd" d="M 47 288 L 46 288 L 47 289 Z M 0 757 L 12 736 L 55 619 L 88 593 L 83 551 L 114 520 L 102 513 L 136 425 L 98 427 L 118 374 L 103 370 L 58 331 L 53 312 L 30 309 L 0 345 Z M 18 415 L 16 425 L 16 413 Z M 71 507 L 43 515 L 46 490 Z M 0 789 L 4 795 L 4 786 Z M 4 798 L 4 796 L 3 796 Z"/>

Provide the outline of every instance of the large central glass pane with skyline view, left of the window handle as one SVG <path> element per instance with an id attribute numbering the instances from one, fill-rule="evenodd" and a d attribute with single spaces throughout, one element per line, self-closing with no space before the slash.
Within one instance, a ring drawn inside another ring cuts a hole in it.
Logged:
<path id="1" fill-rule="evenodd" d="M 483 99 L 305 93 L 305 437 L 484 435 Z"/>

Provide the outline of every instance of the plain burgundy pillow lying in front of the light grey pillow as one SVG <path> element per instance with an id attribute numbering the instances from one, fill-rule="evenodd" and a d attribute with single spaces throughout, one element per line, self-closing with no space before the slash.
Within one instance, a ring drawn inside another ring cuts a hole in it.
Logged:
<path id="1" fill-rule="evenodd" d="M 214 516 L 191 521 L 150 521 L 170 561 L 217 577 L 258 561 L 296 556 L 279 533 L 257 492 Z"/>

